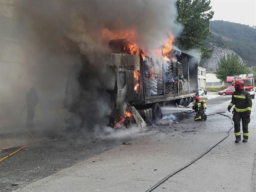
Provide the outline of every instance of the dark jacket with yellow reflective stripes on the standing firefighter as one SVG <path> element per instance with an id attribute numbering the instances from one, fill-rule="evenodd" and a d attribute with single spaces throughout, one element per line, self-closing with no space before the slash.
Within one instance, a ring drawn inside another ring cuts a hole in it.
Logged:
<path id="1" fill-rule="evenodd" d="M 235 105 L 235 112 L 247 112 L 250 114 L 252 111 L 252 98 L 250 96 L 250 93 L 242 89 L 234 91 L 232 94 L 232 100 L 228 105 L 228 108 L 231 109 L 233 105 Z"/>

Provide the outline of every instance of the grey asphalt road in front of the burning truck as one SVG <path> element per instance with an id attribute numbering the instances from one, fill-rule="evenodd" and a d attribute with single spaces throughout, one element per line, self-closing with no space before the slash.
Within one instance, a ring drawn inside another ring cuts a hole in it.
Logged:
<path id="1" fill-rule="evenodd" d="M 207 100 L 207 114 L 226 111 L 230 99 Z M 235 144 L 232 130 L 210 153 L 154 191 L 255 192 L 253 102 L 248 143 Z M 132 136 L 120 133 L 116 135 L 119 138 L 57 137 L 36 142 L 0 163 L 0 191 L 146 191 L 226 136 L 231 126 L 224 116 L 194 122 L 193 115 L 188 113 L 178 123 L 133 132 Z"/>

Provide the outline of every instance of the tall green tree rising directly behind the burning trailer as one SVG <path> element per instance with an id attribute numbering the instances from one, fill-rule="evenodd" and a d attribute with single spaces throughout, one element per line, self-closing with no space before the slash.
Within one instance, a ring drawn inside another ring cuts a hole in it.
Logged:
<path id="1" fill-rule="evenodd" d="M 202 58 L 209 58 L 210 52 L 204 40 L 211 34 L 209 24 L 214 12 L 211 11 L 210 0 L 177 0 L 177 22 L 184 25 L 183 32 L 176 44 L 183 50 L 199 48 Z"/>

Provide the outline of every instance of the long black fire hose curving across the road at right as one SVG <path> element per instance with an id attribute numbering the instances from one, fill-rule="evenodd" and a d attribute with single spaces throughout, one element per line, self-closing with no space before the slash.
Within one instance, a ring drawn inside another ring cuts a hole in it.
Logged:
<path id="1" fill-rule="evenodd" d="M 154 186 L 152 186 L 150 189 L 146 190 L 146 192 L 151 192 L 154 189 L 156 189 L 157 187 L 159 187 L 161 184 L 163 184 L 166 180 L 168 180 L 170 177 L 174 176 L 176 173 L 180 172 L 181 170 L 187 168 L 188 166 L 190 166 L 191 164 L 193 164 L 194 162 L 196 162 L 197 160 L 199 160 L 200 158 L 202 158 L 204 155 L 206 155 L 208 152 L 210 152 L 210 150 L 212 150 L 214 147 L 216 147 L 220 142 L 222 142 L 223 140 L 225 140 L 229 135 L 230 135 L 230 131 L 232 130 L 232 128 L 234 128 L 234 123 L 232 122 L 232 118 L 228 115 L 224 115 L 223 113 L 226 112 L 218 112 L 218 113 L 214 113 L 214 114 L 210 114 L 207 116 L 211 116 L 211 115 L 216 115 L 216 114 L 220 114 L 223 116 L 226 116 L 228 118 L 230 118 L 231 123 L 232 123 L 232 127 L 228 130 L 228 134 L 222 138 L 221 140 L 219 140 L 216 144 L 214 144 L 213 146 L 211 146 L 208 150 L 206 150 L 206 152 L 204 152 L 203 154 L 201 154 L 200 156 L 198 156 L 197 158 L 195 158 L 194 160 L 190 161 L 188 164 L 186 164 L 185 166 L 179 168 L 178 170 L 172 172 L 171 174 L 169 174 L 168 176 L 166 176 L 165 178 L 163 178 L 160 182 L 158 182 L 157 184 L 155 184 Z"/>

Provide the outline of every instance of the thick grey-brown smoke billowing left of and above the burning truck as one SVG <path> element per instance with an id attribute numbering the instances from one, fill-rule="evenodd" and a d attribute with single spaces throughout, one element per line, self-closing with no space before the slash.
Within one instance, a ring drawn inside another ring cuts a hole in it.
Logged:
<path id="1" fill-rule="evenodd" d="M 1 44 L 19 44 L 18 50 L 4 48 L 1 54 L 1 60 L 18 63 L 1 64 L 3 71 L 11 71 L 7 82 L 8 75 L 1 72 L 0 92 L 9 88 L 1 93 L 1 105 L 11 100 L 4 109 L 15 119 L 26 105 L 26 92 L 34 86 L 40 98 L 36 120 L 61 120 L 65 115 L 62 101 L 68 71 L 78 57 L 85 55 L 86 62 L 80 60 L 86 78 L 82 86 L 78 84 L 78 110 L 90 123 L 99 119 L 105 123 L 110 102 L 102 89 L 110 78 L 104 55 L 110 50 L 109 39 L 102 38 L 102 29 L 118 32 L 132 28 L 138 34 L 138 43 L 149 51 L 164 42 L 169 32 L 176 37 L 182 29 L 175 22 L 175 1 L 26 0 L 1 4 L 11 7 L 10 14 L 1 13 Z"/>

